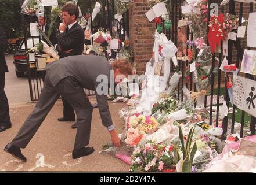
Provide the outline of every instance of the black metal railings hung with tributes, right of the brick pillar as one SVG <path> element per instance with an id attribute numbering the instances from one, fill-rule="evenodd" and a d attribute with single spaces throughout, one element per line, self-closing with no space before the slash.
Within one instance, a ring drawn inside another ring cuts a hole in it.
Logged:
<path id="1" fill-rule="evenodd" d="M 235 2 L 233 0 L 230 0 L 228 5 L 226 6 L 220 6 L 221 1 L 213 1 L 213 0 L 208 0 L 208 18 L 207 18 L 207 25 L 209 24 L 210 21 L 210 5 L 211 3 L 217 3 L 218 4 L 218 12 L 219 13 L 225 13 L 228 12 L 229 14 L 237 14 L 239 15 L 239 26 L 241 25 L 241 21 L 242 21 L 242 17 L 244 16 L 244 9 L 243 6 L 246 3 L 241 3 L 241 2 Z M 178 38 L 178 21 L 182 19 L 182 13 L 181 13 L 181 5 L 183 3 L 183 0 L 171 0 L 171 13 L 170 13 L 170 20 L 172 21 L 172 27 L 171 29 L 165 29 L 164 25 L 163 25 L 163 32 L 165 33 L 165 35 L 167 35 L 168 39 L 171 39 L 175 45 L 177 46 L 177 38 Z M 237 6 L 239 7 L 239 10 L 237 10 Z M 248 3 L 247 3 L 248 5 Z M 236 7 L 236 9 L 235 9 Z M 255 5 L 253 3 L 250 3 L 250 12 L 256 12 L 255 11 Z M 187 29 L 189 30 L 189 29 Z M 208 26 L 207 26 L 207 32 L 208 32 Z M 233 30 L 233 32 L 237 32 L 237 30 Z M 193 33 L 189 32 L 187 33 L 187 39 L 188 40 L 193 40 Z M 208 44 L 208 43 L 207 43 Z M 222 42 L 221 42 L 221 53 L 214 53 L 212 56 L 212 71 L 215 68 L 215 66 L 218 66 L 218 68 L 221 66 L 222 64 L 222 60 L 223 60 L 223 55 L 222 55 Z M 209 46 L 209 44 L 207 45 Z M 234 46 L 234 47 L 233 47 Z M 187 46 L 188 49 L 188 46 Z M 236 51 L 236 54 L 233 54 L 233 51 Z M 196 54 L 194 57 L 197 56 L 197 53 L 199 53 L 199 49 L 196 50 Z M 236 67 L 239 69 L 239 66 L 241 65 L 241 61 L 243 59 L 243 50 L 241 47 L 241 38 L 237 38 L 236 41 L 233 40 L 229 40 L 228 42 L 228 63 L 229 65 L 232 64 L 232 58 L 236 58 Z M 215 58 L 218 58 L 218 61 L 215 60 Z M 193 62 L 193 61 L 192 61 Z M 191 63 L 192 63 L 191 62 Z M 217 63 L 218 62 L 218 63 Z M 217 63 L 217 64 L 216 64 Z M 193 83 L 193 76 L 192 73 L 190 73 L 190 80 L 189 82 L 186 83 L 186 79 L 185 79 L 185 73 L 186 73 L 186 68 L 188 68 L 190 62 L 187 61 L 181 61 L 178 60 L 178 69 L 179 71 L 181 71 L 182 73 L 182 77 L 181 80 L 179 81 L 179 85 L 177 88 L 177 96 L 176 98 L 180 99 L 181 101 L 183 101 L 183 86 L 186 86 L 190 91 L 194 91 L 196 92 L 196 84 Z M 174 65 L 171 64 L 171 72 L 174 72 Z M 213 72 L 211 72 L 211 78 L 210 78 L 210 95 L 205 96 L 204 98 L 204 106 L 205 108 L 207 107 L 207 97 L 210 96 L 210 125 L 212 125 L 213 121 L 212 120 L 216 120 L 215 122 L 215 126 L 219 127 L 219 102 L 220 102 L 220 96 L 221 96 L 221 70 L 218 69 L 218 73 L 217 75 L 215 75 Z M 245 75 L 248 79 L 252 79 L 255 80 L 255 77 L 253 75 L 247 74 Z M 224 93 L 224 98 L 225 101 L 227 102 L 227 105 L 229 107 L 229 103 L 230 103 L 230 98 L 229 98 L 229 94 L 228 91 L 226 90 L 226 83 L 227 79 L 225 78 L 225 93 Z M 214 105 L 213 103 L 213 97 L 214 97 L 214 84 L 217 84 L 217 105 Z M 216 111 L 216 117 L 212 116 L 213 115 L 213 107 L 217 106 L 217 111 Z M 222 128 L 223 128 L 223 135 L 222 135 L 222 139 L 226 138 L 226 133 L 229 131 L 231 133 L 234 133 L 234 127 L 235 127 L 235 119 L 236 117 L 236 106 L 233 106 L 233 113 L 232 116 L 231 114 L 229 114 L 229 116 L 226 116 L 223 121 L 222 121 Z M 246 118 L 246 112 L 242 111 L 241 112 L 241 128 L 240 128 L 240 136 L 243 137 L 244 136 L 244 125 L 245 125 L 245 118 Z M 255 117 L 251 116 L 251 120 L 250 120 L 250 135 L 255 135 L 255 124 L 256 124 L 256 119 Z M 229 127 L 228 127 L 229 126 Z M 228 130 L 228 128 L 230 130 Z"/>

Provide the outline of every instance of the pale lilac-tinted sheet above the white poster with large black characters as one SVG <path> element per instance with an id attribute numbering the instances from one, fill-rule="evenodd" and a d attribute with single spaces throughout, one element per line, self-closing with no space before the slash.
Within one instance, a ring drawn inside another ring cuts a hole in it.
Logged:
<path id="1" fill-rule="evenodd" d="M 256 75 L 256 51 L 244 50 L 241 72 Z"/>

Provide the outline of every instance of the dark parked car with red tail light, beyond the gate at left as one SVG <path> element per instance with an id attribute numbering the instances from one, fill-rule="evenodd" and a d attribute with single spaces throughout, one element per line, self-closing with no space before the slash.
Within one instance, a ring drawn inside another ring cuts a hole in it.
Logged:
<path id="1" fill-rule="evenodd" d="M 39 43 L 38 38 L 27 38 L 27 50 L 37 45 L 37 43 Z M 28 71 L 26 57 L 27 50 L 25 49 L 25 40 L 23 39 L 13 55 L 13 64 L 15 65 L 15 72 L 17 77 L 24 77 L 25 73 Z M 35 67 L 34 62 L 30 62 L 29 65 L 30 68 Z"/>

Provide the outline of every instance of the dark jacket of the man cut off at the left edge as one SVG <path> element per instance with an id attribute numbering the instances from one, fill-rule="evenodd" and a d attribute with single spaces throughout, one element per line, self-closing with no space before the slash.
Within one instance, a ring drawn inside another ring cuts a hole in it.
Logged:
<path id="1" fill-rule="evenodd" d="M 0 26 L 0 73 L 8 72 L 5 61 L 5 51 L 7 49 L 7 39 L 3 28 Z"/>

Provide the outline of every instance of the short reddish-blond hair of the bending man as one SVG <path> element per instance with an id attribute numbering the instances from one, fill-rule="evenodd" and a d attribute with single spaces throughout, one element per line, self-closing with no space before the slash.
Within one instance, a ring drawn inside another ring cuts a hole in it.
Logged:
<path id="1" fill-rule="evenodd" d="M 132 75 L 132 65 L 128 60 L 118 59 L 111 62 L 111 66 L 113 69 L 120 69 L 123 75 Z"/>

